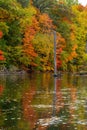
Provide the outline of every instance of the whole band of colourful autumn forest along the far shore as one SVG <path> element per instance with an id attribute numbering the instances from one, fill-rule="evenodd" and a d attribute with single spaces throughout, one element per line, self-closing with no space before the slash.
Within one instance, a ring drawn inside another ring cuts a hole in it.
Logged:
<path id="1" fill-rule="evenodd" d="M 87 6 L 78 0 L 0 0 L 0 69 L 79 71 L 87 67 Z"/>

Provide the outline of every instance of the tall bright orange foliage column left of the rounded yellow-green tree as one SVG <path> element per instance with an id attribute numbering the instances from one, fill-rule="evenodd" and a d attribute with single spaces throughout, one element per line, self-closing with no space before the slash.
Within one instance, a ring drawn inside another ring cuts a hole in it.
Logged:
<path id="1" fill-rule="evenodd" d="M 32 19 L 32 25 L 28 25 L 24 31 L 23 52 L 28 57 L 29 64 L 32 66 L 36 66 L 36 64 L 34 64 L 34 58 L 37 57 L 37 53 L 35 52 L 35 49 L 33 47 L 32 40 L 34 39 L 34 36 L 38 30 L 38 22 L 34 17 Z"/>

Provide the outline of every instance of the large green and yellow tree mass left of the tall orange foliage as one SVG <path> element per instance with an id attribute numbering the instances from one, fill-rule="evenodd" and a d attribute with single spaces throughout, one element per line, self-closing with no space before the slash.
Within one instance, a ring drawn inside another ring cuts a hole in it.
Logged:
<path id="1" fill-rule="evenodd" d="M 5 51 L 6 67 L 11 64 L 17 67 L 20 64 L 26 65 L 29 59 L 23 53 L 22 39 L 26 25 L 32 23 L 35 9 L 31 6 L 22 8 L 16 0 L 0 0 L 0 6 L 0 29 L 3 30 L 0 48 Z"/>

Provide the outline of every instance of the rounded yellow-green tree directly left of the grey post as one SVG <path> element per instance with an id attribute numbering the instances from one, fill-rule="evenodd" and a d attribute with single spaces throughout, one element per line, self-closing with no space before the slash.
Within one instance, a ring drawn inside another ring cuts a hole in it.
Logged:
<path id="1" fill-rule="evenodd" d="M 53 69 L 53 37 L 51 37 L 51 35 L 38 33 L 33 40 L 35 51 L 40 60 L 38 66 L 49 71 Z"/>

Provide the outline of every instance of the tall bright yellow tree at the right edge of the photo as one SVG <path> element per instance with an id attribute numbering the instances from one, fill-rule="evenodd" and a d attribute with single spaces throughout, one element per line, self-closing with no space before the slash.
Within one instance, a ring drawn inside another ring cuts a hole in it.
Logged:
<path id="1" fill-rule="evenodd" d="M 77 68 L 79 66 L 84 65 L 87 60 L 87 54 L 86 54 L 86 35 L 87 35 L 87 9 L 86 7 L 83 7 L 82 5 L 73 6 L 72 10 L 75 14 L 75 18 L 73 19 L 73 22 L 75 24 L 75 36 L 77 40 L 77 55 L 78 57 L 75 58 L 75 63 L 77 65 Z"/>

